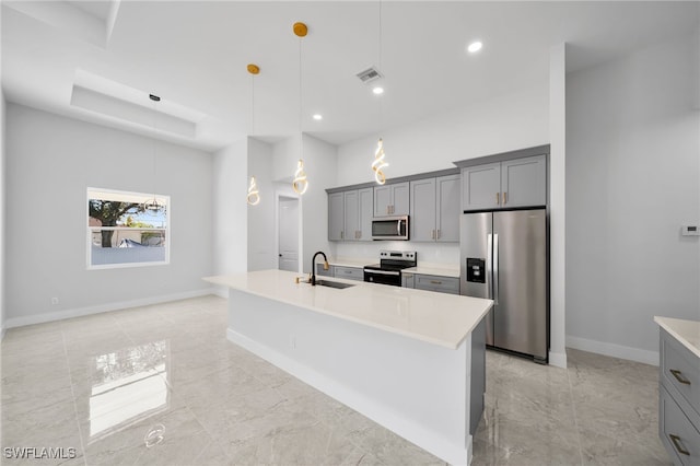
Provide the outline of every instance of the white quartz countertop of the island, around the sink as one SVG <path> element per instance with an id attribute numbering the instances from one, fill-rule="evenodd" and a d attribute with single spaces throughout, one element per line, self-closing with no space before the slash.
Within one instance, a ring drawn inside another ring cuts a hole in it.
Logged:
<path id="1" fill-rule="evenodd" d="M 323 279 L 354 287 L 312 287 L 295 283 L 298 276 L 284 270 L 260 270 L 205 280 L 451 349 L 459 346 L 493 305 L 493 301 L 480 298 L 326 277 Z"/>

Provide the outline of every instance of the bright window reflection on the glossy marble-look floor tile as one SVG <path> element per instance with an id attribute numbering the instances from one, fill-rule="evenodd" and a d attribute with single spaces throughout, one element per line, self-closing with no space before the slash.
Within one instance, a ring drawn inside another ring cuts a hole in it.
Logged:
<path id="1" fill-rule="evenodd" d="M 168 340 L 92 358 L 90 443 L 168 408 Z"/>

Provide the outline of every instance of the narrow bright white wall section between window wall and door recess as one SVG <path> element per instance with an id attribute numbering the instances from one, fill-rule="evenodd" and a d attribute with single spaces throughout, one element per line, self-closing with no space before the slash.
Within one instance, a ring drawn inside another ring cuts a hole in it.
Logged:
<path id="1" fill-rule="evenodd" d="M 213 273 L 248 268 L 248 141 L 242 139 L 213 154 Z M 206 228 L 206 226 L 205 226 Z"/>

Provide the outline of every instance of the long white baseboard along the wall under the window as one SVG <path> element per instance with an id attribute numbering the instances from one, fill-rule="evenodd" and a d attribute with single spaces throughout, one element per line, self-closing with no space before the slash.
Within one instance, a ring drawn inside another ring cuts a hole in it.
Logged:
<path id="1" fill-rule="evenodd" d="M 119 311 L 129 307 L 147 306 L 151 304 L 167 303 L 170 301 L 186 300 L 188 298 L 206 296 L 208 294 L 218 294 L 215 288 L 203 288 L 201 290 L 184 291 L 182 293 L 163 294 L 160 296 L 149 296 L 139 300 L 119 301 L 114 303 L 97 304 L 94 306 L 78 307 L 73 310 L 57 311 L 44 314 L 27 315 L 21 317 L 8 318 L 4 323 L 5 328 L 23 327 L 25 325 L 44 324 L 47 322 L 62 321 L 65 318 L 82 317 L 85 315 L 100 314 L 103 312 Z"/>

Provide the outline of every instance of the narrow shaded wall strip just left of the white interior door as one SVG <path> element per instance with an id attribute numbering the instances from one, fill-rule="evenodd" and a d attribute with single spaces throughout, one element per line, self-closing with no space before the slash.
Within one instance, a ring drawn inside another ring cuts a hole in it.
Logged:
<path id="1" fill-rule="evenodd" d="M 272 145 L 248 138 L 248 182 L 255 176 L 260 202 L 248 206 L 248 270 L 277 268 L 277 231 Z"/>

